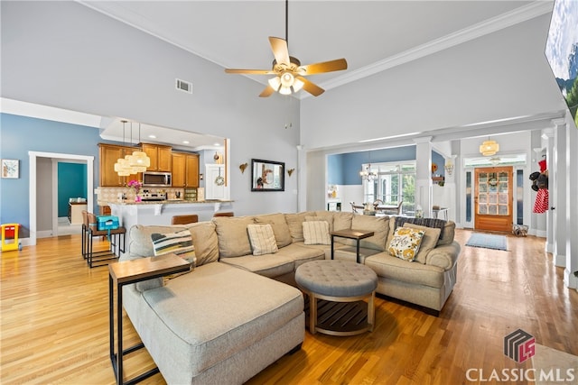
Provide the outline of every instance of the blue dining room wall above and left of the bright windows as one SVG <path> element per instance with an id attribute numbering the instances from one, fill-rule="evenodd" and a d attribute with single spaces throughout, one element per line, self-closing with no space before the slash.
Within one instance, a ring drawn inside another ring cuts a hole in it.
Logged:
<path id="1" fill-rule="evenodd" d="M 328 182 L 330 185 L 360 185 L 359 171 L 363 163 L 400 160 L 415 160 L 415 146 L 330 155 L 327 160 Z"/>

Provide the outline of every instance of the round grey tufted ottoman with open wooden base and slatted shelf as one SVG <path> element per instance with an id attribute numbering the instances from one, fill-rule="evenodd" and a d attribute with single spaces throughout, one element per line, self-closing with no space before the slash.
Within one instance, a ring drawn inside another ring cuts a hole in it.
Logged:
<path id="1" fill-rule="evenodd" d="M 350 261 L 311 261 L 295 270 L 295 281 L 309 296 L 309 330 L 326 335 L 359 335 L 373 331 L 378 275 Z M 330 301 L 320 307 L 318 301 Z M 360 306 L 368 300 L 367 311 Z M 341 304 L 332 304 L 339 302 Z"/>

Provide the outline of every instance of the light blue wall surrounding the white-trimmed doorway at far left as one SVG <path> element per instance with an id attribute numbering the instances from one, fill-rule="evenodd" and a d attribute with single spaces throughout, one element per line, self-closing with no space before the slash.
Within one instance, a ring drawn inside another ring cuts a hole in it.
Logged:
<path id="1" fill-rule="evenodd" d="M 21 237 L 30 234 L 28 151 L 94 156 L 94 186 L 98 186 L 98 143 L 105 141 L 97 128 L 0 114 L 0 139 L 0 157 L 20 160 L 19 179 L 0 179 L 0 223 L 20 224 Z"/>

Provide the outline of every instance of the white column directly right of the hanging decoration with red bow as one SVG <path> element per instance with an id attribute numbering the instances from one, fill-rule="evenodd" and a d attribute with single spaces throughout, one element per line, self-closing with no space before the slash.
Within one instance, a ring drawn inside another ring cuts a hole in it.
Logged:
<path id="1" fill-rule="evenodd" d="M 554 210 L 554 256 L 555 266 L 566 264 L 566 122 L 564 119 L 552 121 L 554 129 L 554 160 L 546 164 L 548 168 L 548 192 L 550 207 Z"/>

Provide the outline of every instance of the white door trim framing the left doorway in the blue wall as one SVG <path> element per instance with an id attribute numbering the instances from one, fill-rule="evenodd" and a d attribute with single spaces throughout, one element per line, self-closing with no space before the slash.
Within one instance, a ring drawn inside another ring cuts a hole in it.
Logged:
<path id="1" fill-rule="evenodd" d="M 55 158 L 61 160 L 80 160 L 87 163 L 87 205 L 89 210 L 94 207 L 94 156 L 86 155 L 74 155 L 74 154 L 64 154 L 57 152 L 39 152 L 39 151 L 28 151 L 29 160 L 29 224 L 30 224 L 30 237 L 27 240 L 27 245 L 35 245 L 37 234 L 36 227 L 36 193 L 38 187 L 36 186 L 36 159 L 37 158 Z M 54 214 L 54 213 L 53 213 Z M 58 216 L 58 215 L 56 215 Z M 58 227 L 58 226 L 57 226 Z"/>

